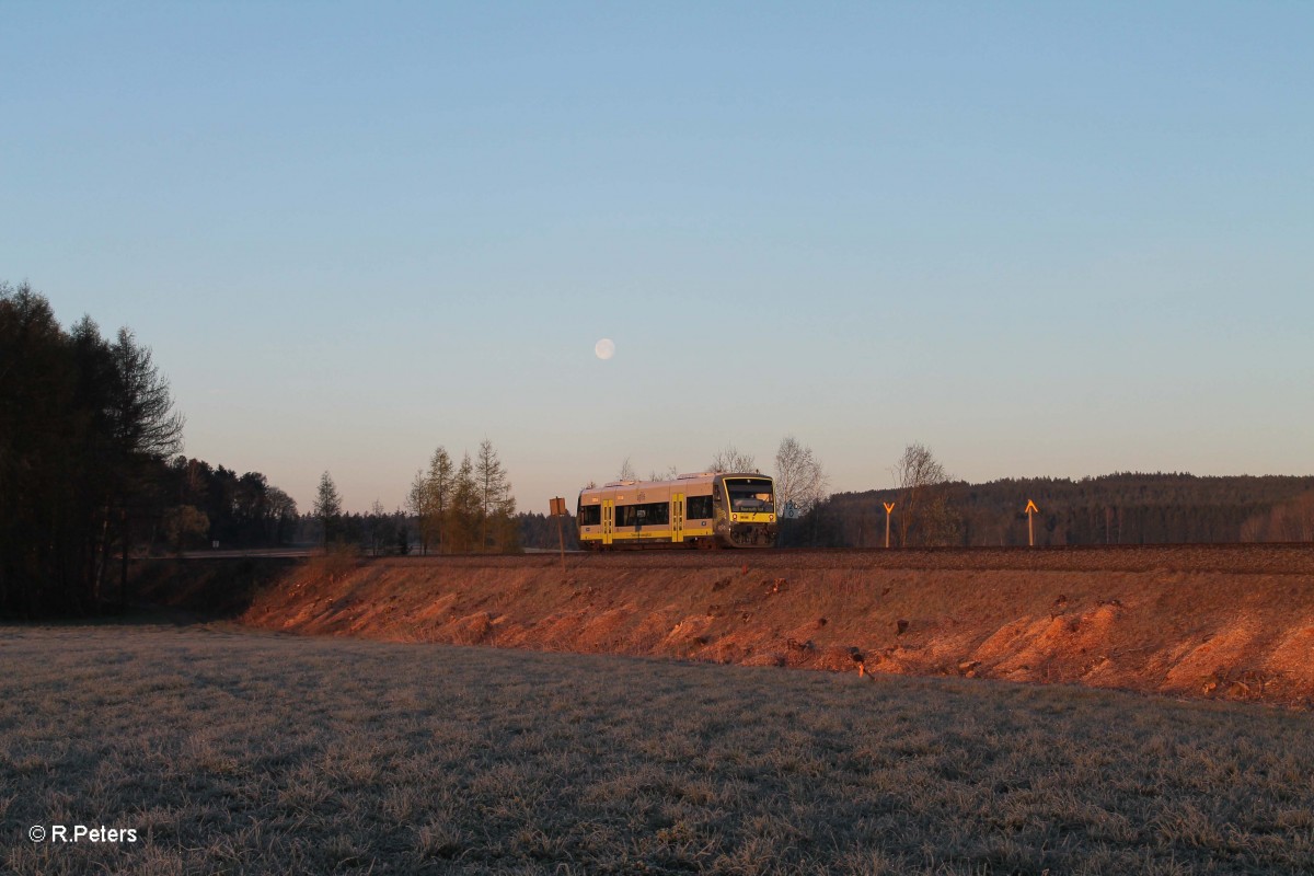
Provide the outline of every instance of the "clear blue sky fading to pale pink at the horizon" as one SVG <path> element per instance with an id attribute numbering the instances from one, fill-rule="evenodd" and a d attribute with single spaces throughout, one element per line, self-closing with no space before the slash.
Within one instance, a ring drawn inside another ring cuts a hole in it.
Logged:
<path id="1" fill-rule="evenodd" d="M 1314 4 L 0 3 L 0 280 L 309 511 L 1314 473 Z M 600 360 L 608 338 L 615 356 Z"/>

